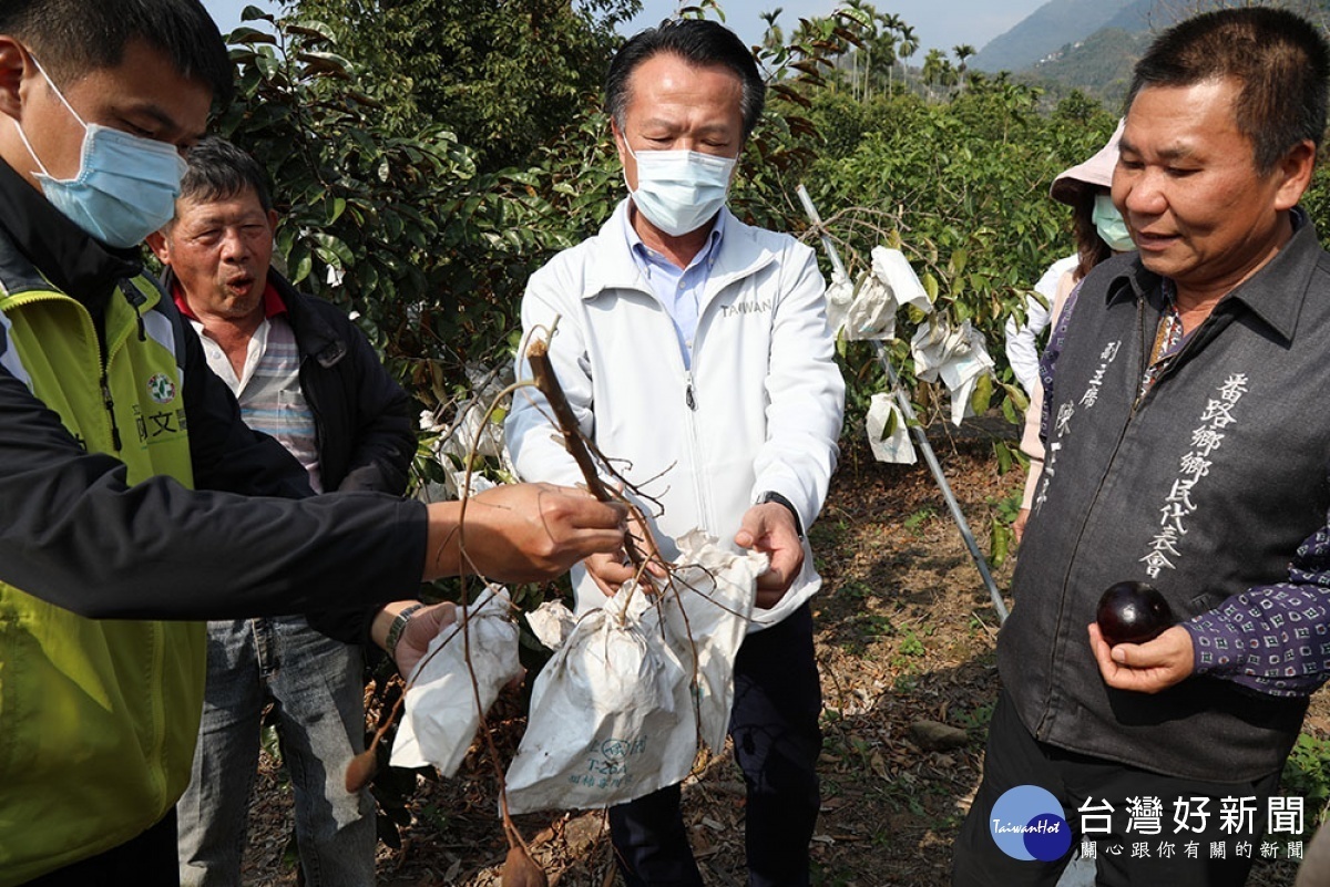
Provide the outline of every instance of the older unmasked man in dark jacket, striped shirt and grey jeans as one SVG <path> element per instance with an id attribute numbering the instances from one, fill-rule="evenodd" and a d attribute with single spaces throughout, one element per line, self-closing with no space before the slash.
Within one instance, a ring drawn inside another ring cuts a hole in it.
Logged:
<path id="1" fill-rule="evenodd" d="M 319 493 L 400 495 L 415 453 L 407 394 L 346 315 L 269 267 L 275 222 L 254 159 L 206 138 L 190 151 L 174 222 L 149 243 L 245 422 L 277 438 Z M 259 720 L 271 701 L 306 883 L 371 887 L 374 801 L 343 787 L 364 748 L 359 647 L 286 616 L 209 623 L 207 648 L 193 781 L 178 807 L 182 883 L 239 883 Z"/>

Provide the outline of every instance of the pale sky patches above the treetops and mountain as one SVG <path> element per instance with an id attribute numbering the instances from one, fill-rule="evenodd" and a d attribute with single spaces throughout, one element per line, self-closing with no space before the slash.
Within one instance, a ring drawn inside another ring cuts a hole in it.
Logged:
<path id="1" fill-rule="evenodd" d="M 942 49 L 947 53 L 959 44 L 971 44 L 983 49 L 984 44 L 1008 31 L 1021 19 L 1044 4 L 1045 0 L 876 0 L 874 5 L 880 12 L 900 16 L 919 35 L 920 48 L 915 64 L 922 64 L 928 49 Z M 217 20 L 221 29 L 230 31 L 241 20 L 241 9 L 253 3 L 274 8 L 270 0 L 203 0 L 203 5 Z M 625 33 L 653 25 L 672 16 L 680 5 L 690 0 L 644 0 L 642 12 L 625 25 Z M 791 32 L 799 19 L 826 16 L 838 5 L 837 0 L 721 0 L 725 11 L 725 24 L 733 28 L 746 44 L 759 42 L 763 12 L 781 8 L 777 19 L 786 33 Z"/>

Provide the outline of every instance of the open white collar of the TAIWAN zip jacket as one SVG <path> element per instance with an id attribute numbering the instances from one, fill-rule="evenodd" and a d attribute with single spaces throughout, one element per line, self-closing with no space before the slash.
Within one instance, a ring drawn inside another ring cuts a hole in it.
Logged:
<path id="1" fill-rule="evenodd" d="M 606 289 L 634 289 L 650 295 L 652 287 L 637 262 L 632 247 L 624 236 L 624 226 L 629 224 L 628 204 L 632 198 L 624 198 L 614 214 L 601 226 L 595 238 L 596 260 L 589 264 L 585 276 L 583 299 L 595 299 Z M 725 215 L 725 236 L 721 238 L 716 264 L 706 282 L 698 313 L 734 280 L 747 278 L 777 259 L 777 254 L 758 243 L 754 228 L 739 222 L 729 207 L 722 207 Z"/>

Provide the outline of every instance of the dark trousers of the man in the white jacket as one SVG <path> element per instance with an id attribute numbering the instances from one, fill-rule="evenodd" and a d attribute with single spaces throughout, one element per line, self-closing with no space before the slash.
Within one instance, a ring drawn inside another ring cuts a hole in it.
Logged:
<path id="1" fill-rule="evenodd" d="M 813 615 L 805 604 L 778 625 L 745 637 L 734 660 L 730 740 L 747 785 L 751 887 L 809 884 L 821 712 Z M 701 886 L 677 785 L 610 807 L 609 827 L 629 887 Z"/>

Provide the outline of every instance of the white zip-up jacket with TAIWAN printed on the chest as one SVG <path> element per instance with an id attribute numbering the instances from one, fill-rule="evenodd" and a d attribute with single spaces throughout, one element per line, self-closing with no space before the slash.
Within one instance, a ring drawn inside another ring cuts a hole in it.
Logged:
<path id="1" fill-rule="evenodd" d="M 692 528 L 734 546 L 743 513 L 783 495 L 805 536 L 837 465 L 845 381 L 827 329 L 825 283 L 813 250 L 794 238 L 725 219 L 698 301 L 692 370 L 674 323 L 633 259 L 628 199 L 600 232 L 532 275 L 521 303 L 524 345 L 557 331 L 549 357 L 581 430 L 644 497 L 661 554 Z M 729 210 L 722 210 L 729 212 Z M 523 348 L 523 353 L 525 348 Z M 531 378 L 519 356 L 517 377 Z M 583 483 L 535 388 L 507 418 L 525 481 Z M 803 543 L 803 571 L 751 629 L 778 623 L 822 580 Z M 579 615 L 605 596 L 573 568 Z"/>

